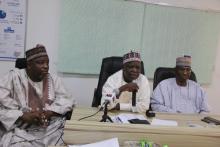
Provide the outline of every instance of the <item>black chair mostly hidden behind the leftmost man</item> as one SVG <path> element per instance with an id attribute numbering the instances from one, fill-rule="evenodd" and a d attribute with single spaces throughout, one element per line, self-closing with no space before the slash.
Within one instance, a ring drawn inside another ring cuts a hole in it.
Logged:
<path id="1" fill-rule="evenodd" d="M 19 69 L 26 68 L 27 67 L 26 58 L 17 58 L 15 61 L 15 67 L 19 68 Z M 72 116 L 72 110 L 66 112 L 66 114 L 64 116 L 66 117 L 67 120 L 70 120 L 70 118 Z"/>

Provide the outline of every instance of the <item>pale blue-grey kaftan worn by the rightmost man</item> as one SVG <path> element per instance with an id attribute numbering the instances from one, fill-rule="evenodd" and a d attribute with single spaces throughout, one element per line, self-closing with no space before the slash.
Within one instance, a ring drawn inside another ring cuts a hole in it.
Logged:
<path id="1" fill-rule="evenodd" d="M 151 106 L 159 112 L 207 112 L 206 94 L 198 83 L 188 80 L 187 86 L 176 84 L 176 78 L 163 80 L 154 90 Z"/>

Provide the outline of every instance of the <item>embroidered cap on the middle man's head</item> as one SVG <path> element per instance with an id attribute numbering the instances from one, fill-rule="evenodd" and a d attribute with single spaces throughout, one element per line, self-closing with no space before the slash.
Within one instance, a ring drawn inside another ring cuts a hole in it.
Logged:
<path id="1" fill-rule="evenodd" d="M 140 53 L 131 51 L 123 56 L 123 64 L 127 62 L 132 62 L 132 61 L 141 62 Z"/>

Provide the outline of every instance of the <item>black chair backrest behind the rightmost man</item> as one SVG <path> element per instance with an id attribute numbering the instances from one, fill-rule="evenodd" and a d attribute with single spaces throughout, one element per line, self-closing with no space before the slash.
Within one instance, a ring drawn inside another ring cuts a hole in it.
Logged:
<path id="1" fill-rule="evenodd" d="M 176 76 L 175 68 L 158 67 L 154 72 L 153 89 L 155 89 L 157 87 L 157 84 L 159 84 L 162 80 L 173 78 L 175 76 Z M 191 72 L 191 76 L 189 79 L 197 82 L 196 75 L 193 71 Z"/>

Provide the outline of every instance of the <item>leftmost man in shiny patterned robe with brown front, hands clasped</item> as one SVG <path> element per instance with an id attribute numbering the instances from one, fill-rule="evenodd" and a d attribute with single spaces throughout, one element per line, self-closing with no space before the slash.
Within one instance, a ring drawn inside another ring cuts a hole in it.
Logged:
<path id="1" fill-rule="evenodd" d="M 44 47 L 32 50 L 39 48 Z M 43 66 L 47 72 L 48 57 L 44 53 L 45 49 L 26 57 L 34 57 L 38 65 L 46 59 Z M 35 82 L 27 71 L 11 70 L 0 81 L 0 122 L 4 127 L 0 147 L 62 145 L 64 114 L 72 110 L 74 100 L 57 76 L 45 73 L 42 80 Z"/>

